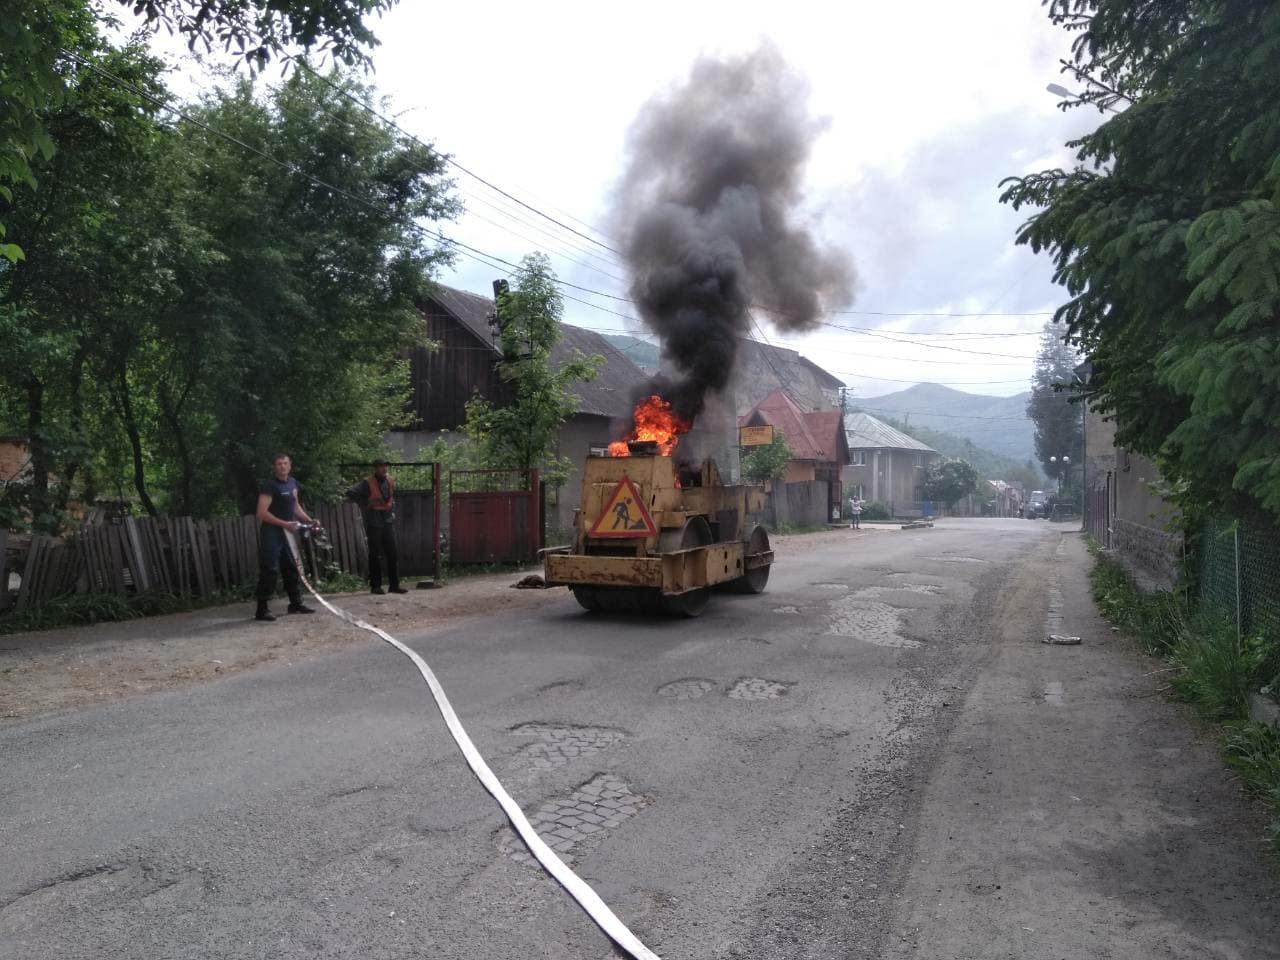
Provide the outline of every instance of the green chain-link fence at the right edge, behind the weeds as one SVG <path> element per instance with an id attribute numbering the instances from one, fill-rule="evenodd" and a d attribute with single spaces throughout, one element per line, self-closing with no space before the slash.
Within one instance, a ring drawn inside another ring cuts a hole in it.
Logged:
<path id="1" fill-rule="evenodd" d="M 1199 539 L 1199 594 L 1242 632 L 1280 636 L 1280 526 L 1256 515 L 1208 520 Z"/>

